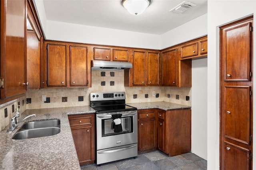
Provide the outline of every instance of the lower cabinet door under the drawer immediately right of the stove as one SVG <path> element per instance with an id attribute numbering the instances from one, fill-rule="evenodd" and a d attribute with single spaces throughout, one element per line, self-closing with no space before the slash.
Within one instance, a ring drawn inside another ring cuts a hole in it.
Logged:
<path id="1" fill-rule="evenodd" d="M 155 149 L 155 120 L 138 122 L 139 151 Z"/>

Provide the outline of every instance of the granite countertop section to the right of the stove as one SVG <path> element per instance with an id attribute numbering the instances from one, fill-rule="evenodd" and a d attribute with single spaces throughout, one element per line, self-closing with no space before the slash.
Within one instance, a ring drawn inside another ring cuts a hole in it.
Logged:
<path id="1" fill-rule="evenodd" d="M 127 105 L 136 107 L 138 110 L 142 109 L 162 109 L 162 110 L 172 110 L 172 109 L 186 109 L 191 108 L 191 106 L 174 104 L 169 102 L 145 102 L 145 103 L 128 103 Z"/>

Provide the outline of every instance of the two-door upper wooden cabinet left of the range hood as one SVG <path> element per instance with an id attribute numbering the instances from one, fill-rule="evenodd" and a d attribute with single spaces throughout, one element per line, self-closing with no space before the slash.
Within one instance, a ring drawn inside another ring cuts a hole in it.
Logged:
<path id="1" fill-rule="evenodd" d="M 43 87 L 90 87 L 88 47 L 80 44 L 44 42 Z M 46 82 L 46 84 L 44 84 Z"/>

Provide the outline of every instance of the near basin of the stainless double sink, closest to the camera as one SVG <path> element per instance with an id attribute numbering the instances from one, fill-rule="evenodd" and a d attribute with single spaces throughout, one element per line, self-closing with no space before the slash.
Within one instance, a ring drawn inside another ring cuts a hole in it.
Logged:
<path id="1" fill-rule="evenodd" d="M 60 127 L 44 127 L 36 129 L 20 129 L 12 139 L 29 139 L 36 137 L 52 136 L 60 133 Z"/>

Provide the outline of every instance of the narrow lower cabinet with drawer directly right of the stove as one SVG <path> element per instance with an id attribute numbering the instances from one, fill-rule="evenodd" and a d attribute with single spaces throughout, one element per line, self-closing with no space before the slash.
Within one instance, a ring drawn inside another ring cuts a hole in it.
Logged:
<path id="1" fill-rule="evenodd" d="M 156 110 L 138 110 L 138 152 L 156 150 Z"/>

